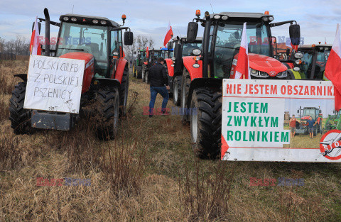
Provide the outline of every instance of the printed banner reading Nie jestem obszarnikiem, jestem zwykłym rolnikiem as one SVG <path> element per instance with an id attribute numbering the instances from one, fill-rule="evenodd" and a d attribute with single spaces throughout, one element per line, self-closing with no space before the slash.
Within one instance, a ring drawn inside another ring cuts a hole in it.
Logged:
<path id="1" fill-rule="evenodd" d="M 341 162 L 332 82 L 224 79 L 222 160 Z"/>

